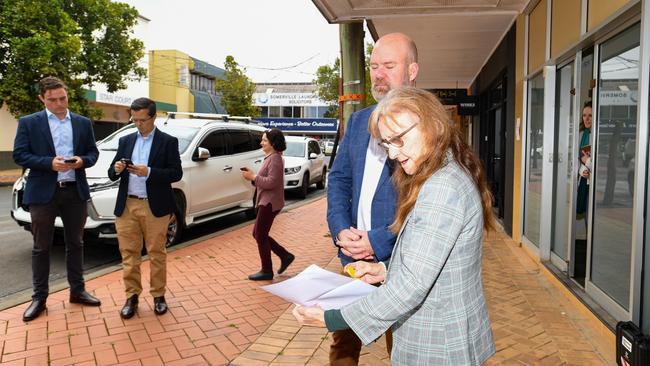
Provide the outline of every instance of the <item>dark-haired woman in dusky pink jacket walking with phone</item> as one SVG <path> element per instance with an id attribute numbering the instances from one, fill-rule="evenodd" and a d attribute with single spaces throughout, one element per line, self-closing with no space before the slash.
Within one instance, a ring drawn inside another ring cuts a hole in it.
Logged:
<path id="1" fill-rule="evenodd" d="M 271 251 L 280 257 L 278 274 L 284 272 L 293 262 L 295 256 L 269 236 L 275 216 L 284 207 L 284 161 L 282 152 L 287 148 L 282 131 L 277 128 L 266 131 L 262 136 L 262 151 L 266 155 L 264 163 L 257 172 L 242 169 L 242 177 L 250 180 L 257 188 L 257 219 L 253 227 L 253 237 L 257 241 L 262 269 L 248 276 L 249 280 L 262 281 L 273 279 Z"/>

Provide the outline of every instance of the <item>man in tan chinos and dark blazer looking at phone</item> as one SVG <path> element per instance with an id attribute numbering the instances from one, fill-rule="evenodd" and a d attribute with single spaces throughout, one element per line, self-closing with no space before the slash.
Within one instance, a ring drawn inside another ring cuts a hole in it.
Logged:
<path id="1" fill-rule="evenodd" d="M 131 318 L 142 293 L 140 260 L 142 239 L 150 260 L 150 288 L 154 312 L 167 312 L 167 226 L 176 210 L 171 184 L 183 177 L 178 139 L 156 128 L 156 103 L 138 98 L 131 104 L 131 121 L 138 131 L 120 138 L 108 168 L 111 180 L 120 179 L 115 203 L 115 228 L 122 255 L 126 302 L 120 311 Z M 179 223 L 181 225 L 181 223 Z"/>

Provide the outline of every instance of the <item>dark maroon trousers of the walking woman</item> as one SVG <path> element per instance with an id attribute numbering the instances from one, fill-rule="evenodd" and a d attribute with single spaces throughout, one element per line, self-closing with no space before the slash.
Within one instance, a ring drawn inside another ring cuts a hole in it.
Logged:
<path id="1" fill-rule="evenodd" d="M 260 252 L 260 259 L 262 260 L 262 272 L 266 273 L 273 273 L 271 251 L 280 258 L 284 258 L 289 254 L 275 239 L 269 236 L 273 220 L 280 213 L 280 210 L 271 210 L 270 203 L 264 206 L 257 206 L 257 219 L 253 227 L 253 237 L 257 241 L 257 249 Z"/>

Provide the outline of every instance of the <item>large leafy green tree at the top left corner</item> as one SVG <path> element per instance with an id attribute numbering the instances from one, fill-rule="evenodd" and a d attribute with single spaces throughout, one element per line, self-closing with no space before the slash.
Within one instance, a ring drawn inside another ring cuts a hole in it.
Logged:
<path id="1" fill-rule="evenodd" d="M 114 92 L 146 75 L 144 45 L 130 38 L 137 18 L 110 0 L 0 0 L 0 105 L 15 116 L 42 109 L 36 85 L 51 75 L 68 85 L 71 110 L 99 117 L 84 87 Z"/>

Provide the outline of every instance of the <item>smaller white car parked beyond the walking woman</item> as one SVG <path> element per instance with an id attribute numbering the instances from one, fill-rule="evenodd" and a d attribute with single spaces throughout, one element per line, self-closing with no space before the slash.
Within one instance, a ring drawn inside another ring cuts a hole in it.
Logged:
<path id="1" fill-rule="evenodd" d="M 297 136 L 287 136 L 285 139 L 284 189 L 295 189 L 302 198 L 307 196 L 307 189 L 313 183 L 316 183 L 316 188 L 324 189 L 327 165 L 318 141 Z"/>

